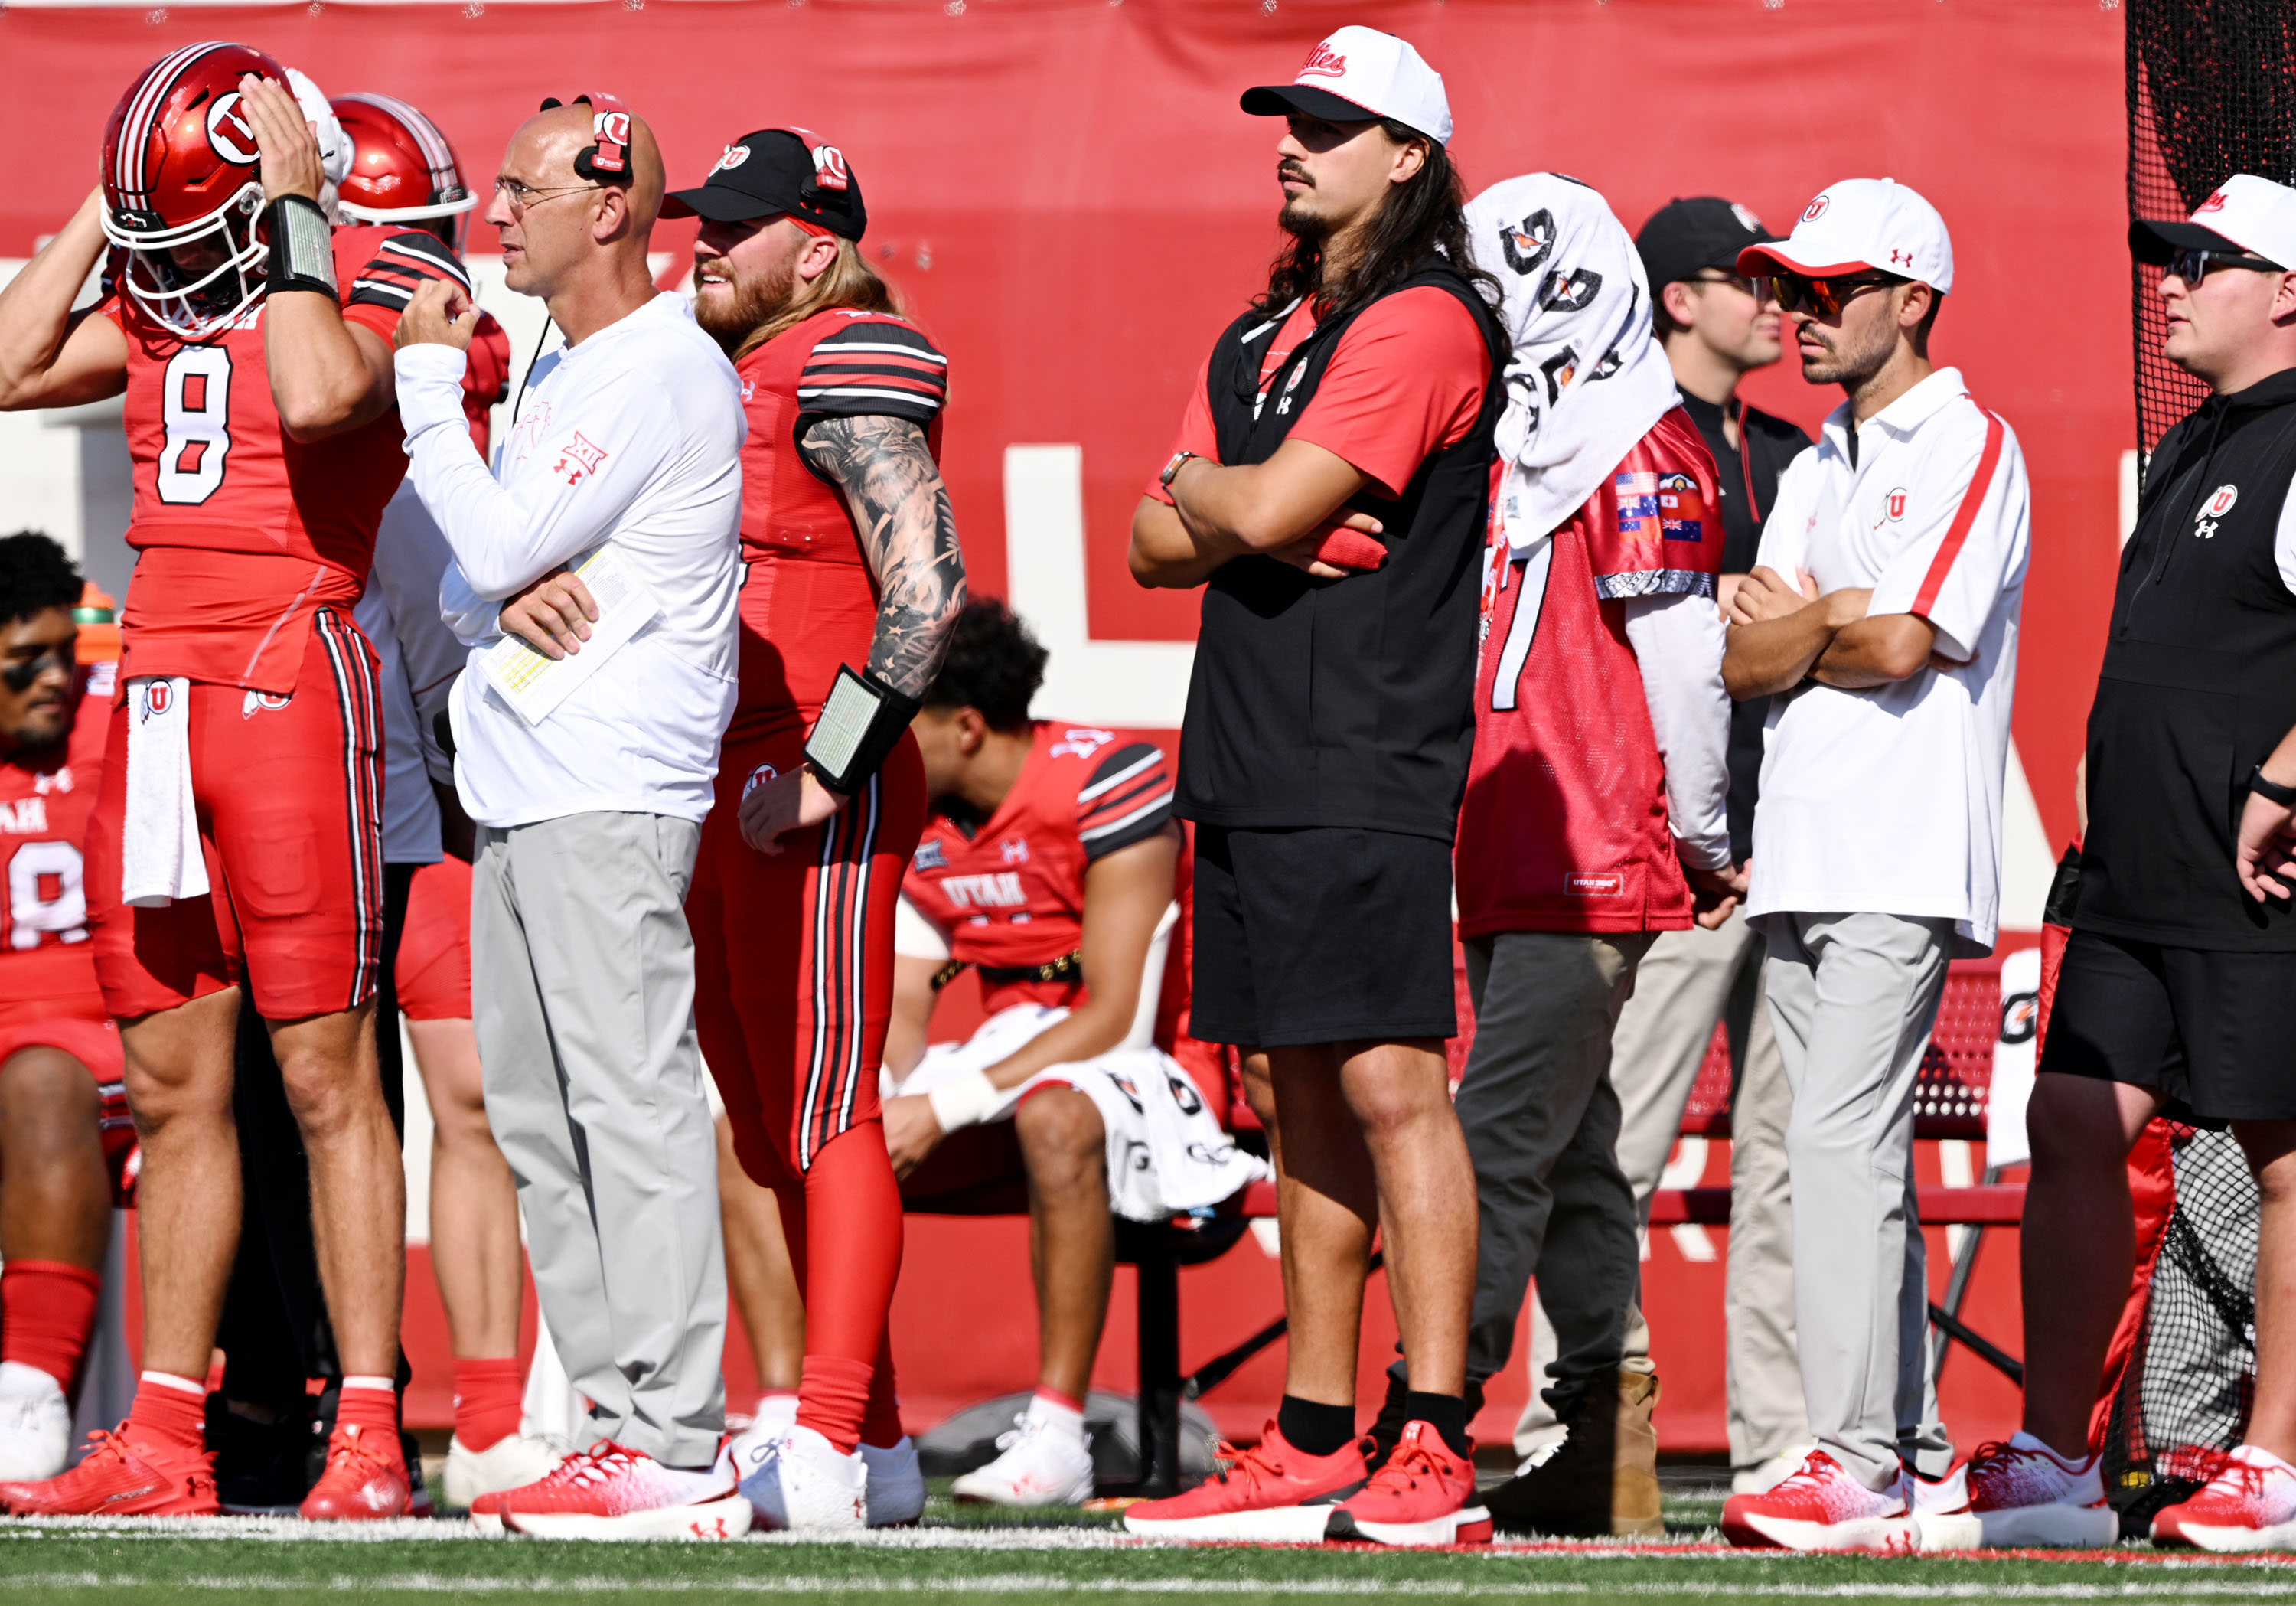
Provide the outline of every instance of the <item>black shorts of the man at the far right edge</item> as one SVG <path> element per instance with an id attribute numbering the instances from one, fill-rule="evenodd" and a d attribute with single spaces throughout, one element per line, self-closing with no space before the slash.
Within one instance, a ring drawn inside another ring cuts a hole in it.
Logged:
<path id="1" fill-rule="evenodd" d="M 2296 953 L 2076 931 L 2041 1071 L 2151 1089 L 2204 1126 L 2296 1121 Z"/>

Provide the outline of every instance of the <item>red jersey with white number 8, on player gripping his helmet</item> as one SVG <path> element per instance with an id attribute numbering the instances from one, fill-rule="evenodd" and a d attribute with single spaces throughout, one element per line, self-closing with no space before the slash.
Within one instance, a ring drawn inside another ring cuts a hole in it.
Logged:
<path id="1" fill-rule="evenodd" d="M 468 273 L 434 234 L 335 230 L 347 324 L 390 342 L 413 289 Z M 129 545 L 140 551 L 122 611 L 122 675 L 191 675 L 294 692 L 319 607 L 349 613 L 374 563 L 374 528 L 406 473 L 397 409 L 319 441 L 294 441 L 264 361 L 269 296 L 230 329 L 186 342 L 122 294 L 99 312 L 126 335 L 124 420 L 135 460 Z"/>

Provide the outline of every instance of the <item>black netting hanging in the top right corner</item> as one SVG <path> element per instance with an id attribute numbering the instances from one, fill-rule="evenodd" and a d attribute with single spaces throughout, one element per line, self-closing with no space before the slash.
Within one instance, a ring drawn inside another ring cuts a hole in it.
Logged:
<path id="1" fill-rule="evenodd" d="M 2126 0 L 2128 216 L 2183 218 L 2234 172 L 2296 184 L 2296 7 Z M 2133 267 L 2138 446 L 2206 386 L 2161 356 L 2161 269 Z"/>

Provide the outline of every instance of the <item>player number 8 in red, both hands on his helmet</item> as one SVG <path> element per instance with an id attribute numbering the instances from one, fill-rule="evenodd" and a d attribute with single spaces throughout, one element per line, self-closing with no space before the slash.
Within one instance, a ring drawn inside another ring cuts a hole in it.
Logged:
<path id="1" fill-rule="evenodd" d="M 264 1018 L 303 1130 L 344 1385 L 305 1516 L 406 1507 L 397 1443 L 404 1176 L 374 1059 L 379 687 L 349 611 L 406 469 L 390 331 L 468 289 L 434 237 L 333 227 L 324 99 L 236 44 L 129 87 L 103 186 L 0 292 L 0 407 L 126 393 L 135 584 L 87 832 L 96 981 L 145 1146 L 142 1383 L 11 1512 L 207 1514 L 204 1376 L 239 1234 L 232 1036 Z M 73 312 L 115 248 L 110 294 Z M 133 754 L 131 754 L 133 749 Z M 135 783 L 129 783 L 131 758 Z"/>

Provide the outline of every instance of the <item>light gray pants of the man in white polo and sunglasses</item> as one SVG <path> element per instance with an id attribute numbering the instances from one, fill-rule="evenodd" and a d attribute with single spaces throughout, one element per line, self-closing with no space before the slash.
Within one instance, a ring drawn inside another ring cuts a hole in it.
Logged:
<path id="1" fill-rule="evenodd" d="M 1763 986 L 1793 1089 L 1793 1310 L 1809 1434 L 1869 1489 L 1924 1429 L 1929 1282 L 1913 1188 L 1913 1082 L 1938 1022 L 1949 919 L 1770 914 Z M 1936 1441 L 1936 1443 L 1931 1443 Z M 1942 1470 L 1942 1468 L 1940 1468 Z"/>

